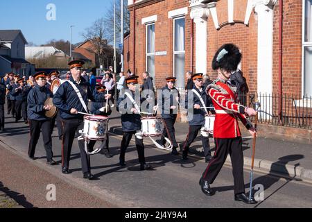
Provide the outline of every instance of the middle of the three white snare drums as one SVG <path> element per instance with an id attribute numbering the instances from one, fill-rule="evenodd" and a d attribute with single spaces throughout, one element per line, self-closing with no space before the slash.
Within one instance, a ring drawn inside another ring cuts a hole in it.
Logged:
<path id="1" fill-rule="evenodd" d="M 144 137 L 162 136 L 162 118 L 160 117 L 142 117 L 141 135 Z"/>

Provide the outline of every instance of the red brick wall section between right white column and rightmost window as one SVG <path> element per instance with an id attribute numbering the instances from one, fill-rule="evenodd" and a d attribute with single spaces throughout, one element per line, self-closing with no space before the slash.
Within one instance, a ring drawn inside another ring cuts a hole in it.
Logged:
<path id="1" fill-rule="evenodd" d="M 283 13 L 283 93 L 302 93 L 302 1 L 284 0 Z M 273 93 L 278 90 L 279 1 L 274 9 Z"/>

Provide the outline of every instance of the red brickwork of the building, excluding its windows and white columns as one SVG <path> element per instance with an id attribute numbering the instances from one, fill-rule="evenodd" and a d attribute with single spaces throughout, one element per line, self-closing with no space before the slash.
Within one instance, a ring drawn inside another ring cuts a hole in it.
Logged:
<path id="1" fill-rule="evenodd" d="M 188 0 L 166 0 L 150 6 L 136 9 L 135 13 L 135 74 L 141 76 L 146 69 L 146 26 L 141 24 L 141 19 L 157 15 L 155 23 L 155 51 L 167 51 L 166 56 L 155 56 L 156 86 L 164 85 L 164 78 L 173 74 L 173 19 L 168 19 L 168 11 L 188 7 Z M 234 21 L 243 23 L 247 0 L 234 1 Z M 227 22 L 227 1 L 217 3 L 218 22 Z M 191 69 L 191 19 L 190 9 L 186 15 L 185 30 L 185 71 Z M 130 62 L 126 63 L 133 69 L 133 10 L 130 15 Z M 284 29 L 283 29 L 283 92 L 287 94 L 301 94 L 302 86 L 302 1 L 284 0 Z M 194 29 L 195 29 L 194 24 Z M 279 4 L 274 7 L 274 32 L 273 32 L 273 92 L 278 89 L 279 72 Z M 193 61 L 195 65 L 195 33 L 194 33 Z M 249 25 L 235 23 L 227 24 L 219 31 L 214 27 L 211 16 L 207 22 L 207 74 L 216 78 L 216 73 L 211 70 L 211 60 L 216 50 L 225 43 L 234 43 L 241 49 L 243 60 L 241 69 L 251 92 L 257 92 L 257 15 L 252 12 Z M 125 56 L 125 59 L 127 57 Z M 126 69 L 126 67 L 125 67 Z M 132 70 L 133 71 L 133 70 Z"/>

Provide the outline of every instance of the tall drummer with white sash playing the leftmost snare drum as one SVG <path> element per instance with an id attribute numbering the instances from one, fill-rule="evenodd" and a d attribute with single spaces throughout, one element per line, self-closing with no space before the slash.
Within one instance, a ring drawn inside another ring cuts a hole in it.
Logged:
<path id="1" fill-rule="evenodd" d="M 53 97 L 53 104 L 59 109 L 62 118 L 63 137 L 62 137 L 62 173 L 69 172 L 69 160 L 71 147 L 76 131 L 84 128 L 83 114 L 78 112 L 89 112 L 87 105 L 91 101 L 103 102 L 105 97 L 110 98 L 110 94 L 95 94 L 90 84 L 85 78 L 81 77 L 81 69 L 85 62 L 73 60 L 69 62 L 70 73 L 69 81 L 62 83 Z M 77 91 L 74 89 L 78 89 Z M 92 180 L 90 158 L 85 152 L 84 140 L 78 140 L 80 149 L 81 164 L 83 168 L 83 178 Z"/>

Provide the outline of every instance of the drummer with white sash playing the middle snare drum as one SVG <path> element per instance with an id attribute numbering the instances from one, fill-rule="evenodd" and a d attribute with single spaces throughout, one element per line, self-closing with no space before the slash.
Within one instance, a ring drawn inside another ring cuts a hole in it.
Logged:
<path id="1" fill-rule="evenodd" d="M 125 151 L 129 146 L 132 135 L 135 135 L 135 145 L 137 146 L 137 153 L 139 155 L 140 169 L 143 171 L 150 169 L 151 166 L 145 162 L 143 137 L 137 134 L 137 131 L 141 130 L 140 108 L 137 103 L 135 103 L 135 87 L 138 84 L 137 78 L 139 77 L 130 76 L 125 80 L 130 92 L 127 90 L 128 92 L 125 92 L 125 94 L 118 99 L 117 111 L 121 112 L 121 124 L 123 128 L 119 164 L 121 167 L 125 166 Z"/>

